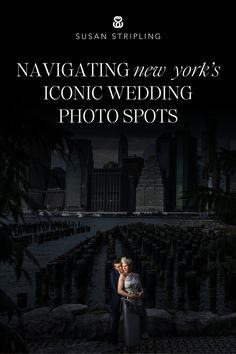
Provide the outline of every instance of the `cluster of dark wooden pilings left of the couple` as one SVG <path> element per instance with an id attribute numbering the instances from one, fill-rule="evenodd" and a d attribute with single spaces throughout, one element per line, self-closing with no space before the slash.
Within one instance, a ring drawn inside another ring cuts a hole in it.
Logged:
<path id="1" fill-rule="evenodd" d="M 97 232 L 35 274 L 35 305 L 51 307 L 63 303 L 86 303 L 94 256 L 103 247 L 103 234 Z M 27 294 L 18 294 L 18 305 L 27 307 Z"/>

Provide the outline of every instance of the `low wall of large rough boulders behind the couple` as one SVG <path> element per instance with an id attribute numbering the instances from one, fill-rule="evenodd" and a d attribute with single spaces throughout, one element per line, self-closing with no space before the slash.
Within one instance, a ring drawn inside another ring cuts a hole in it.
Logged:
<path id="1" fill-rule="evenodd" d="M 16 319 L 11 323 L 17 327 Z M 170 314 L 165 310 L 149 308 L 147 325 L 150 337 L 235 335 L 236 313 L 218 316 L 211 312 L 178 311 Z M 122 320 L 120 327 L 122 337 Z M 21 330 L 27 340 L 103 340 L 108 338 L 110 328 L 111 314 L 107 305 L 93 308 L 81 304 L 65 304 L 54 309 L 40 307 L 24 313 L 21 319 Z"/>

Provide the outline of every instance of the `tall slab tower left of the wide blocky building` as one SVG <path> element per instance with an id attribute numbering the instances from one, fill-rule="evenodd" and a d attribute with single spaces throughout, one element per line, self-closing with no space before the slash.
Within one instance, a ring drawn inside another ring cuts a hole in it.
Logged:
<path id="1" fill-rule="evenodd" d="M 89 140 L 75 140 L 66 168 L 65 207 L 91 210 L 93 153 Z"/>

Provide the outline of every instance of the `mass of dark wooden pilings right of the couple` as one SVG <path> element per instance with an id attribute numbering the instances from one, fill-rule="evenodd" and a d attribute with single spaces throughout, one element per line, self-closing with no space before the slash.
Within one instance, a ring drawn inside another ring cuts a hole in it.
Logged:
<path id="1" fill-rule="evenodd" d="M 146 289 L 146 305 L 157 305 L 157 289 L 174 287 L 179 306 L 199 300 L 201 278 L 209 280 L 210 301 L 215 304 L 219 267 L 223 270 L 225 301 L 236 299 L 235 249 L 223 232 L 172 225 L 134 224 L 120 228 L 125 253 L 133 259 Z M 158 282 L 158 284 L 157 284 Z M 157 287 L 158 285 L 158 287 Z M 235 304 L 234 304 L 235 306 Z"/>

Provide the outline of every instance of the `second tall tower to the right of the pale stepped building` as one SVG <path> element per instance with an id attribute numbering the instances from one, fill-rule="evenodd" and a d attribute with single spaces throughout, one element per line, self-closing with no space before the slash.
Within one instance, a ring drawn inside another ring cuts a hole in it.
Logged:
<path id="1" fill-rule="evenodd" d="M 176 133 L 176 210 L 185 210 L 184 192 L 197 186 L 197 140 L 189 131 Z"/>

